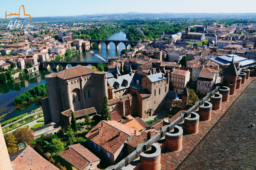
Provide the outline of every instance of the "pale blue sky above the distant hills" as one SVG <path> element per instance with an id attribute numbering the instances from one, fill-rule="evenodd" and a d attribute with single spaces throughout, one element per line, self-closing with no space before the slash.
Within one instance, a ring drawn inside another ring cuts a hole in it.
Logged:
<path id="1" fill-rule="evenodd" d="M 211 3 L 208 3 L 211 2 Z M 0 0 L 0 18 L 24 5 L 31 17 L 102 13 L 250 13 L 256 0 Z"/>

